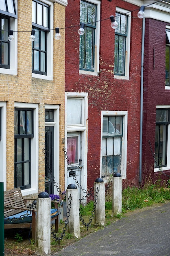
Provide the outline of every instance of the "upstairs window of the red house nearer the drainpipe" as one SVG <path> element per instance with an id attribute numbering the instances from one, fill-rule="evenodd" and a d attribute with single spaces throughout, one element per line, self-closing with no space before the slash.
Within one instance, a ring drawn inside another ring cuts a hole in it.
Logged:
<path id="1" fill-rule="evenodd" d="M 114 74 L 125 76 L 127 16 L 116 12 L 118 27 L 115 29 L 115 62 Z"/>

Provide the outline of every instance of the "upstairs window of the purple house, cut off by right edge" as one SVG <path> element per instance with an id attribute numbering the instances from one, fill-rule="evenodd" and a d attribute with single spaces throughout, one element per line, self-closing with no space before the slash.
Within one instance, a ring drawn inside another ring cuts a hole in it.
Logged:
<path id="1" fill-rule="evenodd" d="M 166 29 L 166 76 L 165 85 L 170 86 L 170 29 Z"/>

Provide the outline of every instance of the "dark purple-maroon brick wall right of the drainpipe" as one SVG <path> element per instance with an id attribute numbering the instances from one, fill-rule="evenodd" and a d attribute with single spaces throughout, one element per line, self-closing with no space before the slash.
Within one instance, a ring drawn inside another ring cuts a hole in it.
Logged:
<path id="1" fill-rule="evenodd" d="M 142 171 L 144 176 L 150 174 L 157 180 L 166 176 L 153 172 L 150 144 L 154 152 L 156 106 L 170 105 L 170 90 L 165 88 L 166 25 L 170 23 L 146 18 L 145 24 Z M 170 170 L 165 173 L 170 174 Z"/>

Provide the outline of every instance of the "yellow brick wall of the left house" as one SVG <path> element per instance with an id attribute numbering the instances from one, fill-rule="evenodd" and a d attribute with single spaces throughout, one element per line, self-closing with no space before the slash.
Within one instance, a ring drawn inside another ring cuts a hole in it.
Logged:
<path id="1" fill-rule="evenodd" d="M 32 0 L 17 1 L 17 30 L 32 29 Z M 54 3 L 54 28 L 65 27 L 65 6 Z M 53 31 L 50 31 L 53 33 Z M 53 79 L 44 80 L 32 78 L 32 46 L 29 32 L 15 33 L 17 37 L 17 75 L 0 74 L 0 101 L 7 103 L 7 177 L 6 189 L 14 188 L 14 103 L 38 104 L 38 173 L 37 192 L 44 191 L 44 106 L 59 105 L 59 170 L 61 184 L 64 189 L 64 153 L 62 138 L 64 138 L 64 97 L 65 97 L 65 30 L 61 32 L 61 40 L 53 39 Z M 54 38 L 54 36 L 53 36 Z M 13 42 L 11 42 L 12 44 Z M 58 143 L 58 141 L 54 141 Z M 32 156 L 33 157 L 33 156 Z M 56 156 L 55 156 L 56 157 Z M 0 170 L 3 172 L 3 170 Z"/>

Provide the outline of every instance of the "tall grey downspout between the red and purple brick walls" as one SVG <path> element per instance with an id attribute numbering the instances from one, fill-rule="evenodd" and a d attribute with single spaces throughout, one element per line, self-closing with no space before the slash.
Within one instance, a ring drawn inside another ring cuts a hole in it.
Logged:
<path id="1" fill-rule="evenodd" d="M 140 142 L 139 142 L 139 183 L 142 182 L 142 133 L 143 133 L 143 93 L 144 93 L 144 38 L 145 17 L 142 21 L 142 49 L 141 49 L 141 82 L 140 82 Z"/>

